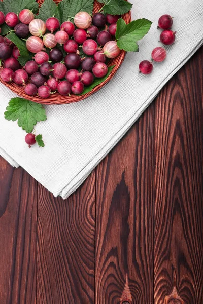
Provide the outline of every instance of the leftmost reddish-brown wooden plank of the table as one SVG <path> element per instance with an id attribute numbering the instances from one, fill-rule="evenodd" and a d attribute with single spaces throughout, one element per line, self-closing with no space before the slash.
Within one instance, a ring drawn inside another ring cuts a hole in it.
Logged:
<path id="1" fill-rule="evenodd" d="M 36 301 L 37 182 L 0 158 L 0 303 Z"/>

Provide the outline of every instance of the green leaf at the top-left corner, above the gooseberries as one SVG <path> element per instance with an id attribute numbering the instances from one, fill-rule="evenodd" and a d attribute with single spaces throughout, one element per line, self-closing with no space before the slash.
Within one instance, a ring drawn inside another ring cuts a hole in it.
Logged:
<path id="1" fill-rule="evenodd" d="M 4 14 L 14 12 L 18 14 L 23 9 L 32 10 L 34 14 L 37 14 L 39 5 L 35 0 L 4 0 L 3 4 Z"/>

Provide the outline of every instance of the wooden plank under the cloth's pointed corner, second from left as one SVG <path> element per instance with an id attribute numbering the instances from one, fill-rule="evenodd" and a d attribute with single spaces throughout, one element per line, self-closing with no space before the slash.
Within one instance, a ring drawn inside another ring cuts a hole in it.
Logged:
<path id="1" fill-rule="evenodd" d="M 37 303 L 94 303 L 95 172 L 65 201 L 39 185 L 37 256 Z"/>

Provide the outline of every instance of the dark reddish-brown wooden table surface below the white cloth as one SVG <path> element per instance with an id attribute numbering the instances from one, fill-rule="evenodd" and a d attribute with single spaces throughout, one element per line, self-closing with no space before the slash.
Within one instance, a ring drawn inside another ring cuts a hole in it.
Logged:
<path id="1" fill-rule="evenodd" d="M 203 48 L 69 199 L 0 159 L 1 304 L 203 303 Z"/>

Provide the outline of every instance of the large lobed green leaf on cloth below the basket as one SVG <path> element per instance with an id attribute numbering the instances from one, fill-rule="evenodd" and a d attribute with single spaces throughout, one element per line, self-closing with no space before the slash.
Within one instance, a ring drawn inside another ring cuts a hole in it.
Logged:
<path id="1" fill-rule="evenodd" d="M 18 126 L 27 133 L 33 131 L 37 122 L 47 119 L 41 104 L 20 97 L 11 98 L 6 109 L 5 119 L 13 122 L 18 120 Z"/>

